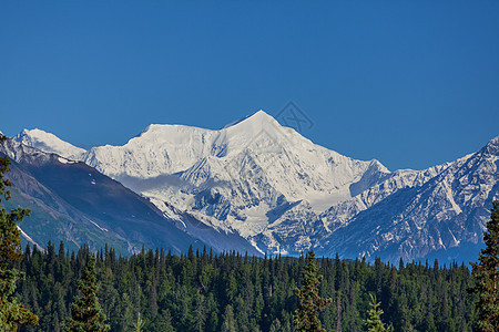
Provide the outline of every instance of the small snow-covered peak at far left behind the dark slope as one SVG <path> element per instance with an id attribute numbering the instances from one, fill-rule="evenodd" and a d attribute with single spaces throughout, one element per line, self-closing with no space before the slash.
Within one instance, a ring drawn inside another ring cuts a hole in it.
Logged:
<path id="1" fill-rule="evenodd" d="M 38 148 L 47 153 L 54 153 L 69 159 L 79 159 L 86 152 L 70 143 L 60 139 L 58 136 L 41 129 L 23 129 L 13 139 L 24 145 Z"/>

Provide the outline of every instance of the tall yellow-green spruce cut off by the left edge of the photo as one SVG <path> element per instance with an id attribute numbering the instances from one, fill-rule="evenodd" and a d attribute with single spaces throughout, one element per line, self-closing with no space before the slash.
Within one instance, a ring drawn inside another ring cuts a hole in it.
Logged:
<path id="1" fill-rule="evenodd" d="M 0 143 L 7 138 L 0 134 Z M 1 200 L 10 199 L 7 187 L 12 184 L 4 174 L 9 170 L 10 160 L 0 158 L 0 331 L 17 331 L 20 324 L 38 324 L 38 317 L 18 303 L 11 294 L 16 290 L 16 282 L 24 278 L 24 274 L 9 268 L 14 261 L 22 258 L 21 231 L 18 222 L 29 215 L 28 209 L 18 207 L 8 211 L 2 208 Z"/>

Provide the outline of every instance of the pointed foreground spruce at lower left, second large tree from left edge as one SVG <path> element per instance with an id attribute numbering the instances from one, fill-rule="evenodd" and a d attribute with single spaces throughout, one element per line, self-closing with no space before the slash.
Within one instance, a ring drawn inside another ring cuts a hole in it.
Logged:
<path id="1" fill-rule="evenodd" d="M 90 253 L 89 261 L 78 283 L 80 295 L 71 303 L 71 319 L 67 331 L 71 332 L 106 332 L 105 314 L 99 304 L 95 283 L 95 257 Z"/>

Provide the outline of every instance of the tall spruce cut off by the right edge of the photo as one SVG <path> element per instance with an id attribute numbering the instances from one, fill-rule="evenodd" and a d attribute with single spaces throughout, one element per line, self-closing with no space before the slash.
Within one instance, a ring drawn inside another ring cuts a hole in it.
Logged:
<path id="1" fill-rule="evenodd" d="M 470 291 L 479 294 L 476 330 L 499 331 L 499 201 L 492 203 L 483 242 L 486 248 L 480 250 L 480 262 L 471 262 L 476 284 Z"/>

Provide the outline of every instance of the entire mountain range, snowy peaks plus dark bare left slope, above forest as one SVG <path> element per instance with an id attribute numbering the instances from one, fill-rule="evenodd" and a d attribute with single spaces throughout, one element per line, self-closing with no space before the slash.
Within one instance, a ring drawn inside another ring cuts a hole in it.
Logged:
<path id="1" fill-rule="evenodd" d="M 24 129 L 0 153 L 13 160 L 16 201 L 52 220 L 28 218 L 31 241 L 91 238 L 130 252 L 195 242 L 253 255 L 475 260 L 499 197 L 499 136 L 451 163 L 389 172 L 263 111 L 218 131 L 150 125 L 123 146 L 89 151 Z"/>

